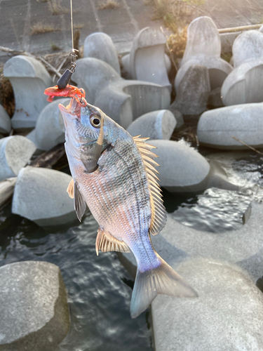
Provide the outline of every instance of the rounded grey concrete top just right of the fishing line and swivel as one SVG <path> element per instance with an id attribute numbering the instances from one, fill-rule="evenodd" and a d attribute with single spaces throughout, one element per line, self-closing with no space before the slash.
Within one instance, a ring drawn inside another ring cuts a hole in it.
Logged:
<path id="1" fill-rule="evenodd" d="M 84 58 L 98 58 L 121 74 L 118 55 L 112 38 L 105 33 L 93 33 L 84 41 Z"/>

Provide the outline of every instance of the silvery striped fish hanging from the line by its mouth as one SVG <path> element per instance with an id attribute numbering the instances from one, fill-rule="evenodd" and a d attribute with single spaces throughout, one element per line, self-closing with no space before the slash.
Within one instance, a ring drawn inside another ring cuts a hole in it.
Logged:
<path id="1" fill-rule="evenodd" d="M 45 93 L 52 96 L 54 91 Z M 97 255 L 100 250 L 133 252 L 137 274 L 131 317 L 146 310 L 159 293 L 197 296 L 151 244 L 151 235 L 166 225 L 166 209 L 156 176 L 157 156 L 151 152 L 154 146 L 145 143 L 149 138 L 133 138 L 99 108 L 88 104 L 84 96 L 71 96 L 67 107 L 59 105 L 73 178 L 69 196 L 74 197 L 79 220 L 87 204 L 100 225 L 95 243 Z"/>

